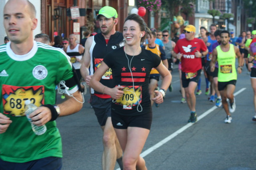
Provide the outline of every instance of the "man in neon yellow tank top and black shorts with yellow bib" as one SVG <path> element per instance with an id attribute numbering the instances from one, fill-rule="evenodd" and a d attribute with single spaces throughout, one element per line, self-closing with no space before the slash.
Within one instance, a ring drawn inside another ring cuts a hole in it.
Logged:
<path id="1" fill-rule="evenodd" d="M 230 40 L 230 33 L 226 30 L 220 33 L 221 44 L 212 51 L 211 71 L 215 69 L 215 62 L 218 61 L 218 90 L 222 98 L 222 105 L 226 112 L 225 123 L 231 123 L 232 117 L 230 113 L 236 110 L 236 102 L 234 98 L 234 91 L 236 88 L 236 56 L 238 57 L 238 73 L 242 72 L 241 53 L 238 47 L 228 43 Z M 230 101 L 228 107 L 227 98 Z"/>

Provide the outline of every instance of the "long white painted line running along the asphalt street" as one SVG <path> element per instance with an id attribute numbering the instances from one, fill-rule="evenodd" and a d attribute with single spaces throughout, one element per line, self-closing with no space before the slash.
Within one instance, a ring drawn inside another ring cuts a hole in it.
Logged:
<path id="1" fill-rule="evenodd" d="M 234 93 L 234 96 L 242 93 L 246 88 L 242 88 L 239 91 L 237 91 L 236 93 Z M 202 115 L 198 116 L 197 118 L 197 122 L 200 121 L 201 119 L 203 119 L 204 117 L 206 117 L 207 115 L 209 115 L 212 111 L 214 111 L 215 109 L 217 109 L 218 107 L 214 106 L 211 109 L 209 109 L 208 111 L 204 112 Z M 156 150 L 157 148 L 159 148 L 160 146 L 162 146 L 163 144 L 165 144 L 166 142 L 168 142 L 169 140 L 171 140 L 172 138 L 176 137 L 178 134 L 182 133 L 184 130 L 186 130 L 187 128 L 191 127 L 192 125 L 194 125 L 194 123 L 187 123 L 184 127 L 178 129 L 176 132 L 174 132 L 173 134 L 171 134 L 170 136 L 167 136 L 166 138 L 164 138 L 163 140 L 161 140 L 160 142 L 158 142 L 157 144 L 155 144 L 154 146 L 148 148 L 147 150 L 145 150 L 144 152 L 142 152 L 140 154 L 140 156 L 143 158 L 145 156 L 147 156 L 148 154 L 150 154 L 151 152 L 153 152 L 154 150 Z M 120 168 L 116 169 L 116 170 L 120 170 Z"/>

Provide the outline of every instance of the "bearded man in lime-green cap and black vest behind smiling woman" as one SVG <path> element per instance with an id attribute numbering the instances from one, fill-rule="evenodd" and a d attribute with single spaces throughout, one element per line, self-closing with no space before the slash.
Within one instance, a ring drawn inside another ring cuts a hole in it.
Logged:
<path id="1" fill-rule="evenodd" d="M 116 10 L 110 6 L 104 6 L 100 9 L 97 20 L 100 24 L 101 34 L 91 36 L 86 40 L 85 53 L 82 58 L 81 74 L 86 80 L 87 85 L 90 83 L 92 75 L 98 67 L 100 67 L 105 55 L 121 46 L 123 46 L 123 35 L 116 32 L 116 24 L 118 23 L 118 14 Z M 90 68 L 89 68 L 90 67 Z M 90 74 L 89 74 L 90 69 Z M 100 82 L 107 87 L 114 87 L 112 79 L 112 69 L 110 68 Z M 103 146 L 102 169 L 111 170 L 115 167 L 117 161 L 122 169 L 122 148 L 116 137 L 112 121 L 111 121 L 111 103 L 110 95 L 99 93 L 91 88 L 90 104 L 94 109 L 95 115 L 103 130 Z"/>

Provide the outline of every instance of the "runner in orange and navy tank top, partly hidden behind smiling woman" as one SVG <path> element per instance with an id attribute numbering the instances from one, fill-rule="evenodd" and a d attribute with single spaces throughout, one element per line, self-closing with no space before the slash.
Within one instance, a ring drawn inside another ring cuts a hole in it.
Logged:
<path id="1" fill-rule="evenodd" d="M 164 64 L 164 66 L 166 68 L 168 68 L 168 61 L 166 59 L 164 49 L 161 46 L 159 46 L 158 44 L 155 43 L 155 41 L 156 41 L 156 32 L 151 32 L 151 33 L 152 33 L 152 38 L 150 38 L 150 37 L 147 38 L 148 39 L 148 44 L 145 45 L 145 49 L 147 49 L 147 50 L 151 51 L 152 53 L 155 53 L 159 57 L 161 57 L 161 60 Z M 150 99 L 154 98 L 154 95 L 155 95 L 154 90 L 157 87 L 159 77 L 160 77 L 159 72 L 155 68 L 152 68 L 152 70 L 150 71 L 150 83 L 149 83 L 149 86 L 148 86 Z M 154 104 L 154 101 L 151 100 L 151 105 L 153 105 L 153 104 Z M 159 105 L 156 104 L 156 107 L 159 107 Z"/>

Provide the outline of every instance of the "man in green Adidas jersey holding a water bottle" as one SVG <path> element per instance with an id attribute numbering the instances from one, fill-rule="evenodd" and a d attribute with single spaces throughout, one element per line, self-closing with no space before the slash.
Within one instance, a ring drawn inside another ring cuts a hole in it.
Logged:
<path id="1" fill-rule="evenodd" d="M 0 170 L 60 170 L 62 142 L 55 120 L 82 108 L 70 57 L 34 41 L 36 10 L 28 0 L 9 0 L 3 16 L 10 42 L 0 46 Z M 69 96 L 55 105 L 55 87 L 62 80 Z M 24 114 L 28 99 L 38 107 L 29 117 L 34 125 L 46 125 L 44 134 L 34 134 Z"/>

